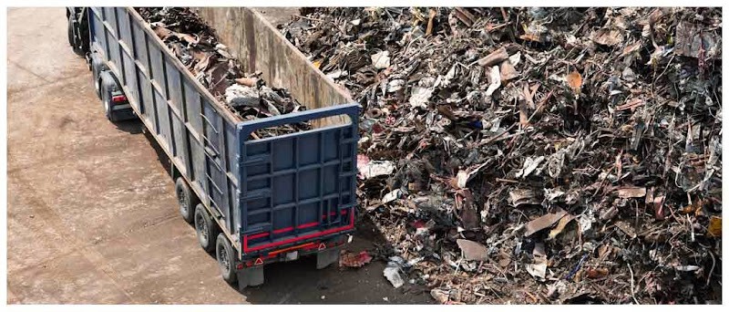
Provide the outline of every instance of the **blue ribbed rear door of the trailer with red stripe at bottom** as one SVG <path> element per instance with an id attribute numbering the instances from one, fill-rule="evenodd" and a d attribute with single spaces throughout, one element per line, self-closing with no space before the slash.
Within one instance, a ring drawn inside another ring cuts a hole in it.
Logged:
<path id="1" fill-rule="evenodd" d="M 353 122 L 245 140 L 256 129 L 337 115 Z M 242 254 L 354 228 L 357 118 L 357 104 L 344 104 L 239 126 Z"/>

